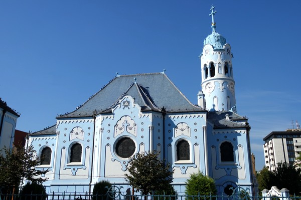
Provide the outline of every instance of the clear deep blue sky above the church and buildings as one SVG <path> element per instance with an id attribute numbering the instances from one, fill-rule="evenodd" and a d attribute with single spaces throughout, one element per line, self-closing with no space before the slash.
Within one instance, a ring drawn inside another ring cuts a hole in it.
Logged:
<path id="1" fill-rule="evenodd" d="M 232 47 L 236 103 L 249 118 L 256 169 L 262 138 L 301 122 L 301 1 L 9 0 L 0 2 L 0 97 L 37 131 L 73 111 L 116 72 L 161 72 L 194 103 L 199 55 L 216 31 Z"/>

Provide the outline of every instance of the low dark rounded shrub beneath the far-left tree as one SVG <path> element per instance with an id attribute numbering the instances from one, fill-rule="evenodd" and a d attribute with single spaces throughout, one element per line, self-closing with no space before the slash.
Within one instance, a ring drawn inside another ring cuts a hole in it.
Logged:
<path id="1" fill-rule="evenodd" d="M 45 200 L 47 197 L 46 188 L 41 183 L 27 182 L 20 192 L 22 199 Z"/>

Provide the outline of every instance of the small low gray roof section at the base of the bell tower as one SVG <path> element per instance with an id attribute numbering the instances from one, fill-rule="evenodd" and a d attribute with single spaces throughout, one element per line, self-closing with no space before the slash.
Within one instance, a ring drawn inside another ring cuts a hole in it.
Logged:
<path id="1" fill-rule="evenodd" d="M 214 124 L 214 128 L 249 127 L 247 118 L 231 111 L 208 112 L 208 120 Z"/>

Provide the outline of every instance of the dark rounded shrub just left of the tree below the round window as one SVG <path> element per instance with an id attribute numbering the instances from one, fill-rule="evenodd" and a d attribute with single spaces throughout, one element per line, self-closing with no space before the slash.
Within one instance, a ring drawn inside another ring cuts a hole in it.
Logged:
<path id="1" fill-rule="evenodd" d="M 112 192 L 111 186 L 112 184 L 107 180 L 97 182 L 93 187 L 93 200 L 112 200 L 113 194 L 110 193 Z"/>

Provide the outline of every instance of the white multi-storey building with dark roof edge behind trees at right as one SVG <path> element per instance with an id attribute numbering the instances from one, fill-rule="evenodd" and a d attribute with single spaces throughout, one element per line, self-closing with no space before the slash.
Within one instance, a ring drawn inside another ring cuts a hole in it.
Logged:
<path id="1" fill-rule="evenodd" d="M 272 131 L 263 140 L 265 166 L 271 171 L 278 162 L 293 164 L 301 151 L 301 129 Z"/>

